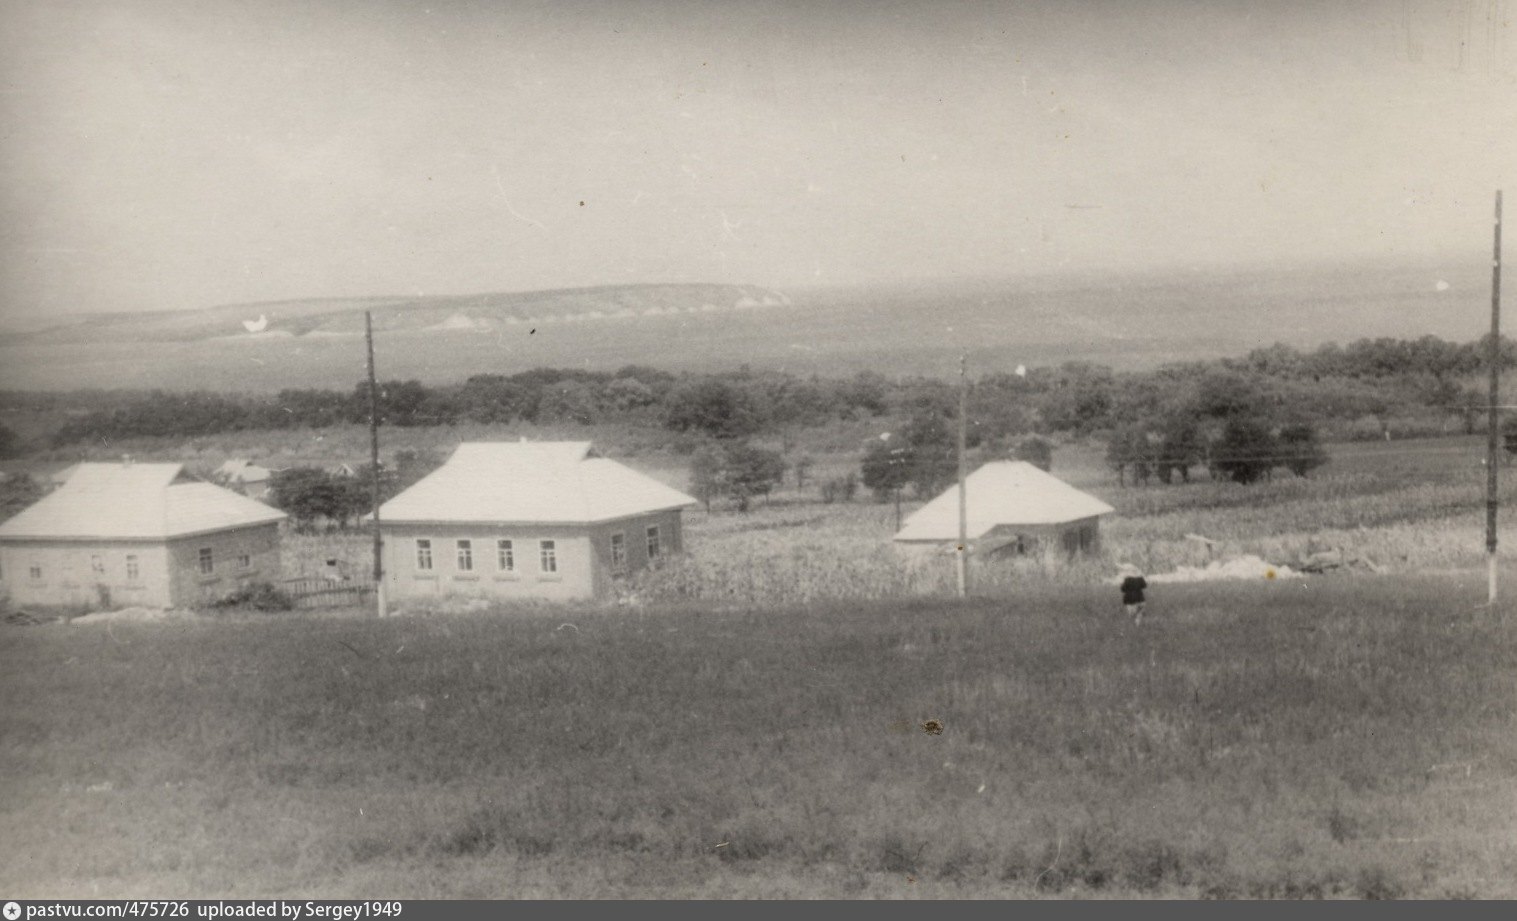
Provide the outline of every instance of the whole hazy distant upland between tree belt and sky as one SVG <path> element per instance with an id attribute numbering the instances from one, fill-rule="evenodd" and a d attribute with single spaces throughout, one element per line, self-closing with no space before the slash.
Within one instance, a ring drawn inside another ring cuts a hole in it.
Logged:
<path id="1" fill-rule="evenodd" d="M 796 288 L 620 285 L 472 296 L 241 303 L 73 317 L 0 335 L 0 388 L 349 388 L 363 311 L 387 379 L 531 367 L 951 376 L 1094 361 L 1144 369 L 1283 341 L 1490 329 L 1490 262 L 1318 264 Z M 258 326 L 249 332 L 246 322 Z"/>

